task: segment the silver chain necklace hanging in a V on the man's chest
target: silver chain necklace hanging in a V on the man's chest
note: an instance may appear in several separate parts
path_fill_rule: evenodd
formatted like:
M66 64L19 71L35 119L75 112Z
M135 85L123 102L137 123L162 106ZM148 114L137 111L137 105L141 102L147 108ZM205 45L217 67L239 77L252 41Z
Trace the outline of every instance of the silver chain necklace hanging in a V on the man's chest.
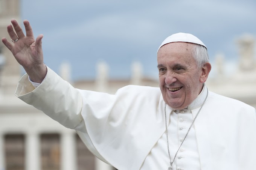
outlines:
M206 87L206 89L207 89L207 87ZM191 123L189 129L187 130L187 133L186 133L185 137L183 138L183 141L181 142L180 147L181 147L181 145L183 144L185 138L187 137L187 134L189 133L191 127L193 126L193 124L194 124L194 122L195 122L195 119L197 119L197 116L198 116L199 112L201 111L201 109L202 109L202 107L203 107L203 105L204 105L204 103L205 103L205 101L206 101L206 99L207 99L207 96L208 96L208 89L207 89L206 98L204 99L203 104L201 105L200 109L198 110L197 115L195 115L195 118L194 118L194 120L192 121L192 123ZM175 157L176 157L178 151L180 150L180 147L178 148L178 150L177 150L177 152L175 153L175 156L174 156L174 158L173 158L173 160L172 160L172 159L171 159L171 155L170 155L169 140L168 140L168 132L167 132L166 104L165 104L165 131L166 131L166 140L167 140L168 154L169 154L169 158L170 158L170 167L168 168L168 170L173 170L172 164L173 164L173 162L174 162L174 159L175 159Z

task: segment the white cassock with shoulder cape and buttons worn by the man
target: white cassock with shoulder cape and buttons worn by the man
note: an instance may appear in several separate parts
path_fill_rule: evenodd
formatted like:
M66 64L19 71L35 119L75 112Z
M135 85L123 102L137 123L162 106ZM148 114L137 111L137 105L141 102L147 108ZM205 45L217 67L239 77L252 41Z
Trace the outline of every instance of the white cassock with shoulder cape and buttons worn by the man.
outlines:
M36 89L24 75L15 94L67 128L75 129L94 155L119 170L168 169L165 102L159 88L126 86L115 95L79 90L47 69L45 80ZM204 87L184 110L166 107L172 158L179 145L177 140L186 134L206 93ZM179 113L185 113L185 118ZM174 126L186 130L175 131ZM186 140L191 142L184 141L184 152L175 158L175 168L256 169L255 108L209 92L189 135Z

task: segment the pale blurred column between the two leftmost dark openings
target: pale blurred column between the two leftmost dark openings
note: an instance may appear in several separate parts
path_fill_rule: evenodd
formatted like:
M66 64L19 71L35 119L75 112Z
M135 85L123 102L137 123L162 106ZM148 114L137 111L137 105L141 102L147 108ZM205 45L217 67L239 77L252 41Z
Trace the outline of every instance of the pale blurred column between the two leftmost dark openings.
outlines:
M26 134L26 144L25 144L25 158L26 158L26 170L40 170L40 138L39 134L35 132L30 132Z

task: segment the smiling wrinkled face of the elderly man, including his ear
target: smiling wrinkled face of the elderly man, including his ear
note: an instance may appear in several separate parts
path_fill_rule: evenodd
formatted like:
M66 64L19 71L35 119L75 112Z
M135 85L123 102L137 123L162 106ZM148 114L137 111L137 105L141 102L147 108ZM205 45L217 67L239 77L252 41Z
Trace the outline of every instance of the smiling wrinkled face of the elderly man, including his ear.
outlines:
M206 81L210 63L198 68L192 56L194 44L172 42L163 45L157 53L159 85L163 99L174 109L186 108L197 98Z

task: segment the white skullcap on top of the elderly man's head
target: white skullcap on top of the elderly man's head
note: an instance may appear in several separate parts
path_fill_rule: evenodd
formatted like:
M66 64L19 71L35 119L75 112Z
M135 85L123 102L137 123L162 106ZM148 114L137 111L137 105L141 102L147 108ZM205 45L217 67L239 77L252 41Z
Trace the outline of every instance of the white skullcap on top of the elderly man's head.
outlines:
M165 44L169 44L171 42L190 42L190 43L194 43L194 44L200 44L203 45L205 48L206 45L204 45L204 43L198 39L196 36L192 35L192 34L187 34L187 33L177 33L177 34L173 34L169 37L167 37L162 44L160 45L160 47L158 48L158 50ZM157 52L158 52L157 50Z

